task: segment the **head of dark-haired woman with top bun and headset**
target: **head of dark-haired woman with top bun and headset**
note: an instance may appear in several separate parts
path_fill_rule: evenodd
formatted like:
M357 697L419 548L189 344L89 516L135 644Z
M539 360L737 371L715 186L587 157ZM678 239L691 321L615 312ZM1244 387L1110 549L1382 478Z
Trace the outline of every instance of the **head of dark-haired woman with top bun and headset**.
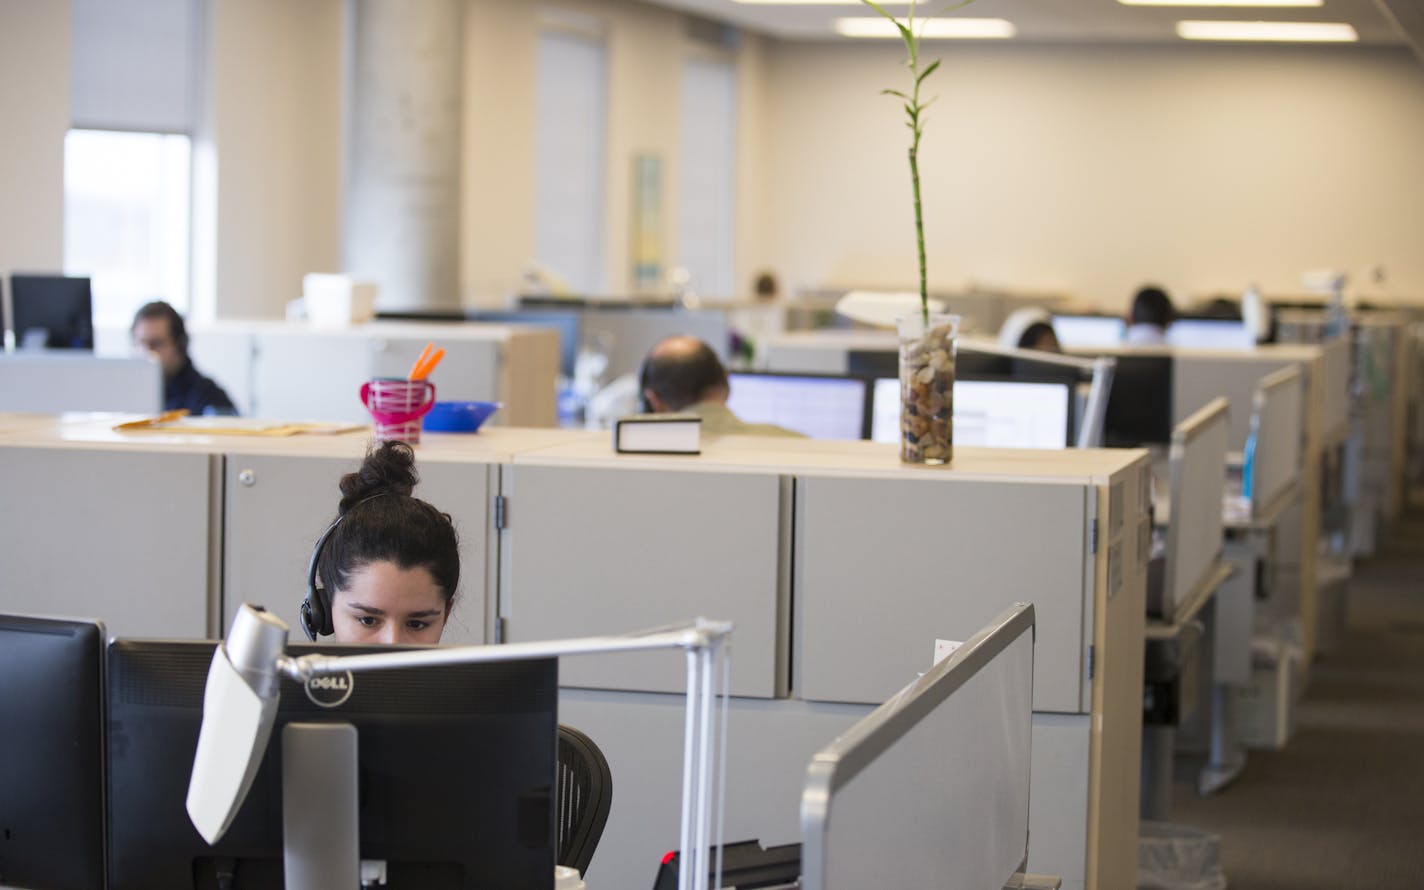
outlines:
M403 441L382 443L342 477L336 521L308 570L308 638L440 642L460 582L460 543L449 514L412 496L417 481L416 453Z

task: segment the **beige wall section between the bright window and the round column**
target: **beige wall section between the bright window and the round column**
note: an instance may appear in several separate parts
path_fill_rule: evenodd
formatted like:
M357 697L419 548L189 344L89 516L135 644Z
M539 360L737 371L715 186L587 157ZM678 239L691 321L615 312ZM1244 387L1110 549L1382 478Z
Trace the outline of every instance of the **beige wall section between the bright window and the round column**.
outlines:
M216 0L216 315L281 318L340 263L342 0Z

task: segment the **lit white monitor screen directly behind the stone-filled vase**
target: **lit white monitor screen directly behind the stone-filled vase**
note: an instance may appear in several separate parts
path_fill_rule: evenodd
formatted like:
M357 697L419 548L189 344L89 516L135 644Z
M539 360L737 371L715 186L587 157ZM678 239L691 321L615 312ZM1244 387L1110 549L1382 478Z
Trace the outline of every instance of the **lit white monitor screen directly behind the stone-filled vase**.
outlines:
M1072 444L1074 387L1061 382L954 382L954 443L993 449ZM870 439L900 441L900 380L874 382Z

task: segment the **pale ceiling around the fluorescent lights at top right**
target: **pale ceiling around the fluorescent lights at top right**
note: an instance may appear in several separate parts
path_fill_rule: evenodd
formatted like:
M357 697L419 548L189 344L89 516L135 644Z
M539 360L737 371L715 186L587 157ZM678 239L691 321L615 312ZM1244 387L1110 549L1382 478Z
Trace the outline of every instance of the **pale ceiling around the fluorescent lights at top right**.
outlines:
M733 0L652 0L658 6L696 13L786 40L844 40L832 23L842 16L874 16L862 4L762 6ZM1386 0L1388 1L1388 0ZM1396 0L1397 1L1397 0ZM946 3L923 3L921 13ZM903 13L906 6L891 6ZM1403 46L1405 38L1377 0L1324 0L1304 9L1262 7L1143 7L1118 0L974 0L947 13L951 17L1007 19L1018 28L1018 41L1030 43L1185 43L1176 37L1179 19L1272 21L1344 21L1354 26L1360 43Z

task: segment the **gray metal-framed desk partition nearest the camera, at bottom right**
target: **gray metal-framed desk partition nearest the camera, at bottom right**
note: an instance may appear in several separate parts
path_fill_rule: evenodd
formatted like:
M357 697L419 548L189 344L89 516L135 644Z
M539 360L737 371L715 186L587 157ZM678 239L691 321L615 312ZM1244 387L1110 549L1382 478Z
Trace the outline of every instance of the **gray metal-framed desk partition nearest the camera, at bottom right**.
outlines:
M1032 679L1034 607L1018 604L816 752L802 887L994 889L1022 873Z

